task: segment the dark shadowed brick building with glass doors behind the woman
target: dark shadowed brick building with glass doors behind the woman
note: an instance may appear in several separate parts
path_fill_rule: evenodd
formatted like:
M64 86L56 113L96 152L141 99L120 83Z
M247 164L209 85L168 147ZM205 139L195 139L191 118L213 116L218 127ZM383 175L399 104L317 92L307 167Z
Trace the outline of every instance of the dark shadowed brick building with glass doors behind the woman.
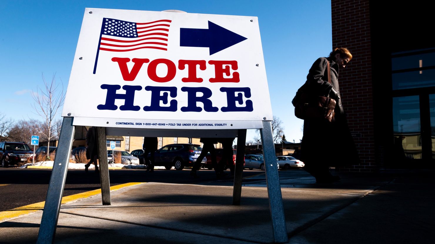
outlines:
M434 167L435 19L427 5L331 0L332 46L353 55L340 93L361 158L341 171Z

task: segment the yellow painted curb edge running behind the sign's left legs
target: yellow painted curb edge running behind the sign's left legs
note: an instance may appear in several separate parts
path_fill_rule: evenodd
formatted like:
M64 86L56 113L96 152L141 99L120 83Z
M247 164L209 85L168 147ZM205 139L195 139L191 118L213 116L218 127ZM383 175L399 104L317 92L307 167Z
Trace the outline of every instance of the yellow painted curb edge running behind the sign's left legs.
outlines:
M119 190L119 189L123 189L129 186L134 186L134 185L140 185L143 184L145 182L131 182L131 183L125 183L125 184L121 184L121 185L114 185L114 186L110 186L110 192ZM92 190L89 192L82 192L82 193L78 193L78 194L74 194L74 195L70 195L70 196L65 196L62 198L62 202L61 205L65 205L71 202L76 202L78 200L84 199L84 198L88 198L88 197L92 197L95 195L101 194L101 189L96 189L96 190ZM26 205L26 206L22 206L22 207L18 207L18 208L13 208L10 210L6 210L6 211L2 211L0 212L0 223L13 219L13 218L18 218L18 217L22 217L25 215L29 215L29 214L33 214L37 211L42 211L44 208L44 202L37 202L37 203L33 203L30 205Z

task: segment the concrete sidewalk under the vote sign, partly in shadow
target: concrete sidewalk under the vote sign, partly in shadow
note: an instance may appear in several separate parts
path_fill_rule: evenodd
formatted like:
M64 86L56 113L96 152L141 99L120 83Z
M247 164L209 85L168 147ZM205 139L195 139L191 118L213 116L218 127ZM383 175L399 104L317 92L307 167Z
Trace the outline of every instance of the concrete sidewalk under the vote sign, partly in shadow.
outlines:
M280 171L289 243L432 243L433 173L340 173L341 182L316 184L304 170ZM111 199L110 206L99 195L62 206L55 243L273 242L264 174L244 179L240 206L231 205L230 178L144 183ZM36 243L41 216L0 223L0 243Z

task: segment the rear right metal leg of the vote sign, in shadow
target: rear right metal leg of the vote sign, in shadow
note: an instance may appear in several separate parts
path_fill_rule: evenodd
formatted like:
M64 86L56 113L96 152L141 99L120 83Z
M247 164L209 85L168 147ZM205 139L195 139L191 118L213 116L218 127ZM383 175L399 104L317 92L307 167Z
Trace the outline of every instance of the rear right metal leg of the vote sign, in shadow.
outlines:
M240 198L242 193L242 175L243 175L243 158L244 158L245 142L246 142L246 129L239 130L237 133L236 166L234 168L233 205L240 205Z

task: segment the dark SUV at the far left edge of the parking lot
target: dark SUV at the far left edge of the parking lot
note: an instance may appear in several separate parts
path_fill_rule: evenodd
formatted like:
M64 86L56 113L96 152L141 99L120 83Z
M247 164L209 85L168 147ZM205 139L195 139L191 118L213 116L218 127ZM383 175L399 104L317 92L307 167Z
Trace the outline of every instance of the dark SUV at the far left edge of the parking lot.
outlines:
M27 161L27 159L32 156L33 151L25 142L0 142L0 160L2 167Z

